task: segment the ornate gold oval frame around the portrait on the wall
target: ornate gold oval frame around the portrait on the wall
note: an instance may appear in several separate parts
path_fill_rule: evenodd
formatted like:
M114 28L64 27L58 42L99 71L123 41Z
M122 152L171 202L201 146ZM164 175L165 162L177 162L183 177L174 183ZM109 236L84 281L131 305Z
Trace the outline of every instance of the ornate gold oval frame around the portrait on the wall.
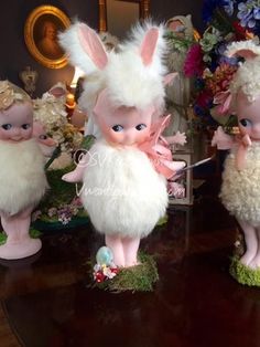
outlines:
M32 56L42 65L50 67L50 69L61 69L67 64L66 55L63 54L61 57L52 60L47 56L43 55L40 50L37 49L36 42L34 40L34 30L35 24L43 15L51 15L56 19L58 22L62 23L66 29L71 25L71 20L68 17L61 11L59 9L55 8L54 6L40 6L35 8L28 17L24 25L24 40L25 44L32 54Z

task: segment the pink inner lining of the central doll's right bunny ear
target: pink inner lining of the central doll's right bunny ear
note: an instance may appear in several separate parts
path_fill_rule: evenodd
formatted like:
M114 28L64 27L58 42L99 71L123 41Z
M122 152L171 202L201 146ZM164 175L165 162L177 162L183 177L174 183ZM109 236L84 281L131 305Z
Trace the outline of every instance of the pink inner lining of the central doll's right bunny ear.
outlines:
M151 28L141 43L140 55L144 66L150 65L152 63L153 55L158 44L158 39L159 30L156 28Z

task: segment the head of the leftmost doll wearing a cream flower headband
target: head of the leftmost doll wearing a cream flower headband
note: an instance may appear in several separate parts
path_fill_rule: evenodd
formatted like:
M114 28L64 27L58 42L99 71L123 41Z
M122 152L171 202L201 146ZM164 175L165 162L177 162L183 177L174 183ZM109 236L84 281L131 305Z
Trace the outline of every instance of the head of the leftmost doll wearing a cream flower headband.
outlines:
M0 81L0 139L22 141L32 137L30 96L8 81Z

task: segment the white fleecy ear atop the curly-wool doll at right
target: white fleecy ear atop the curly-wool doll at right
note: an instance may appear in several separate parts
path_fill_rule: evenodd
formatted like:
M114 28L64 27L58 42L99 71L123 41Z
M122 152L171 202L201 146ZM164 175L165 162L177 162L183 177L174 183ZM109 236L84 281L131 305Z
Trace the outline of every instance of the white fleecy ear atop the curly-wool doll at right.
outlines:
M239 55L241 57L245 57L246 60L254 59L257 56L260 56L260 46L257 45L253 41L234 42L229 45L226 55Z

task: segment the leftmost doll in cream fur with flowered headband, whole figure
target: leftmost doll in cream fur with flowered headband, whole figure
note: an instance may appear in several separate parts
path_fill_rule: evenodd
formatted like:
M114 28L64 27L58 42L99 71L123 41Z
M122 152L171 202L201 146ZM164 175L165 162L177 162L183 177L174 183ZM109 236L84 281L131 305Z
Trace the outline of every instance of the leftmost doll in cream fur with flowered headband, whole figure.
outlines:
M0 81L0 217L7 241L0 257L15 260L41 249L31 239L31 213L45 193L44 156L33 138L30 96L8 81Z

